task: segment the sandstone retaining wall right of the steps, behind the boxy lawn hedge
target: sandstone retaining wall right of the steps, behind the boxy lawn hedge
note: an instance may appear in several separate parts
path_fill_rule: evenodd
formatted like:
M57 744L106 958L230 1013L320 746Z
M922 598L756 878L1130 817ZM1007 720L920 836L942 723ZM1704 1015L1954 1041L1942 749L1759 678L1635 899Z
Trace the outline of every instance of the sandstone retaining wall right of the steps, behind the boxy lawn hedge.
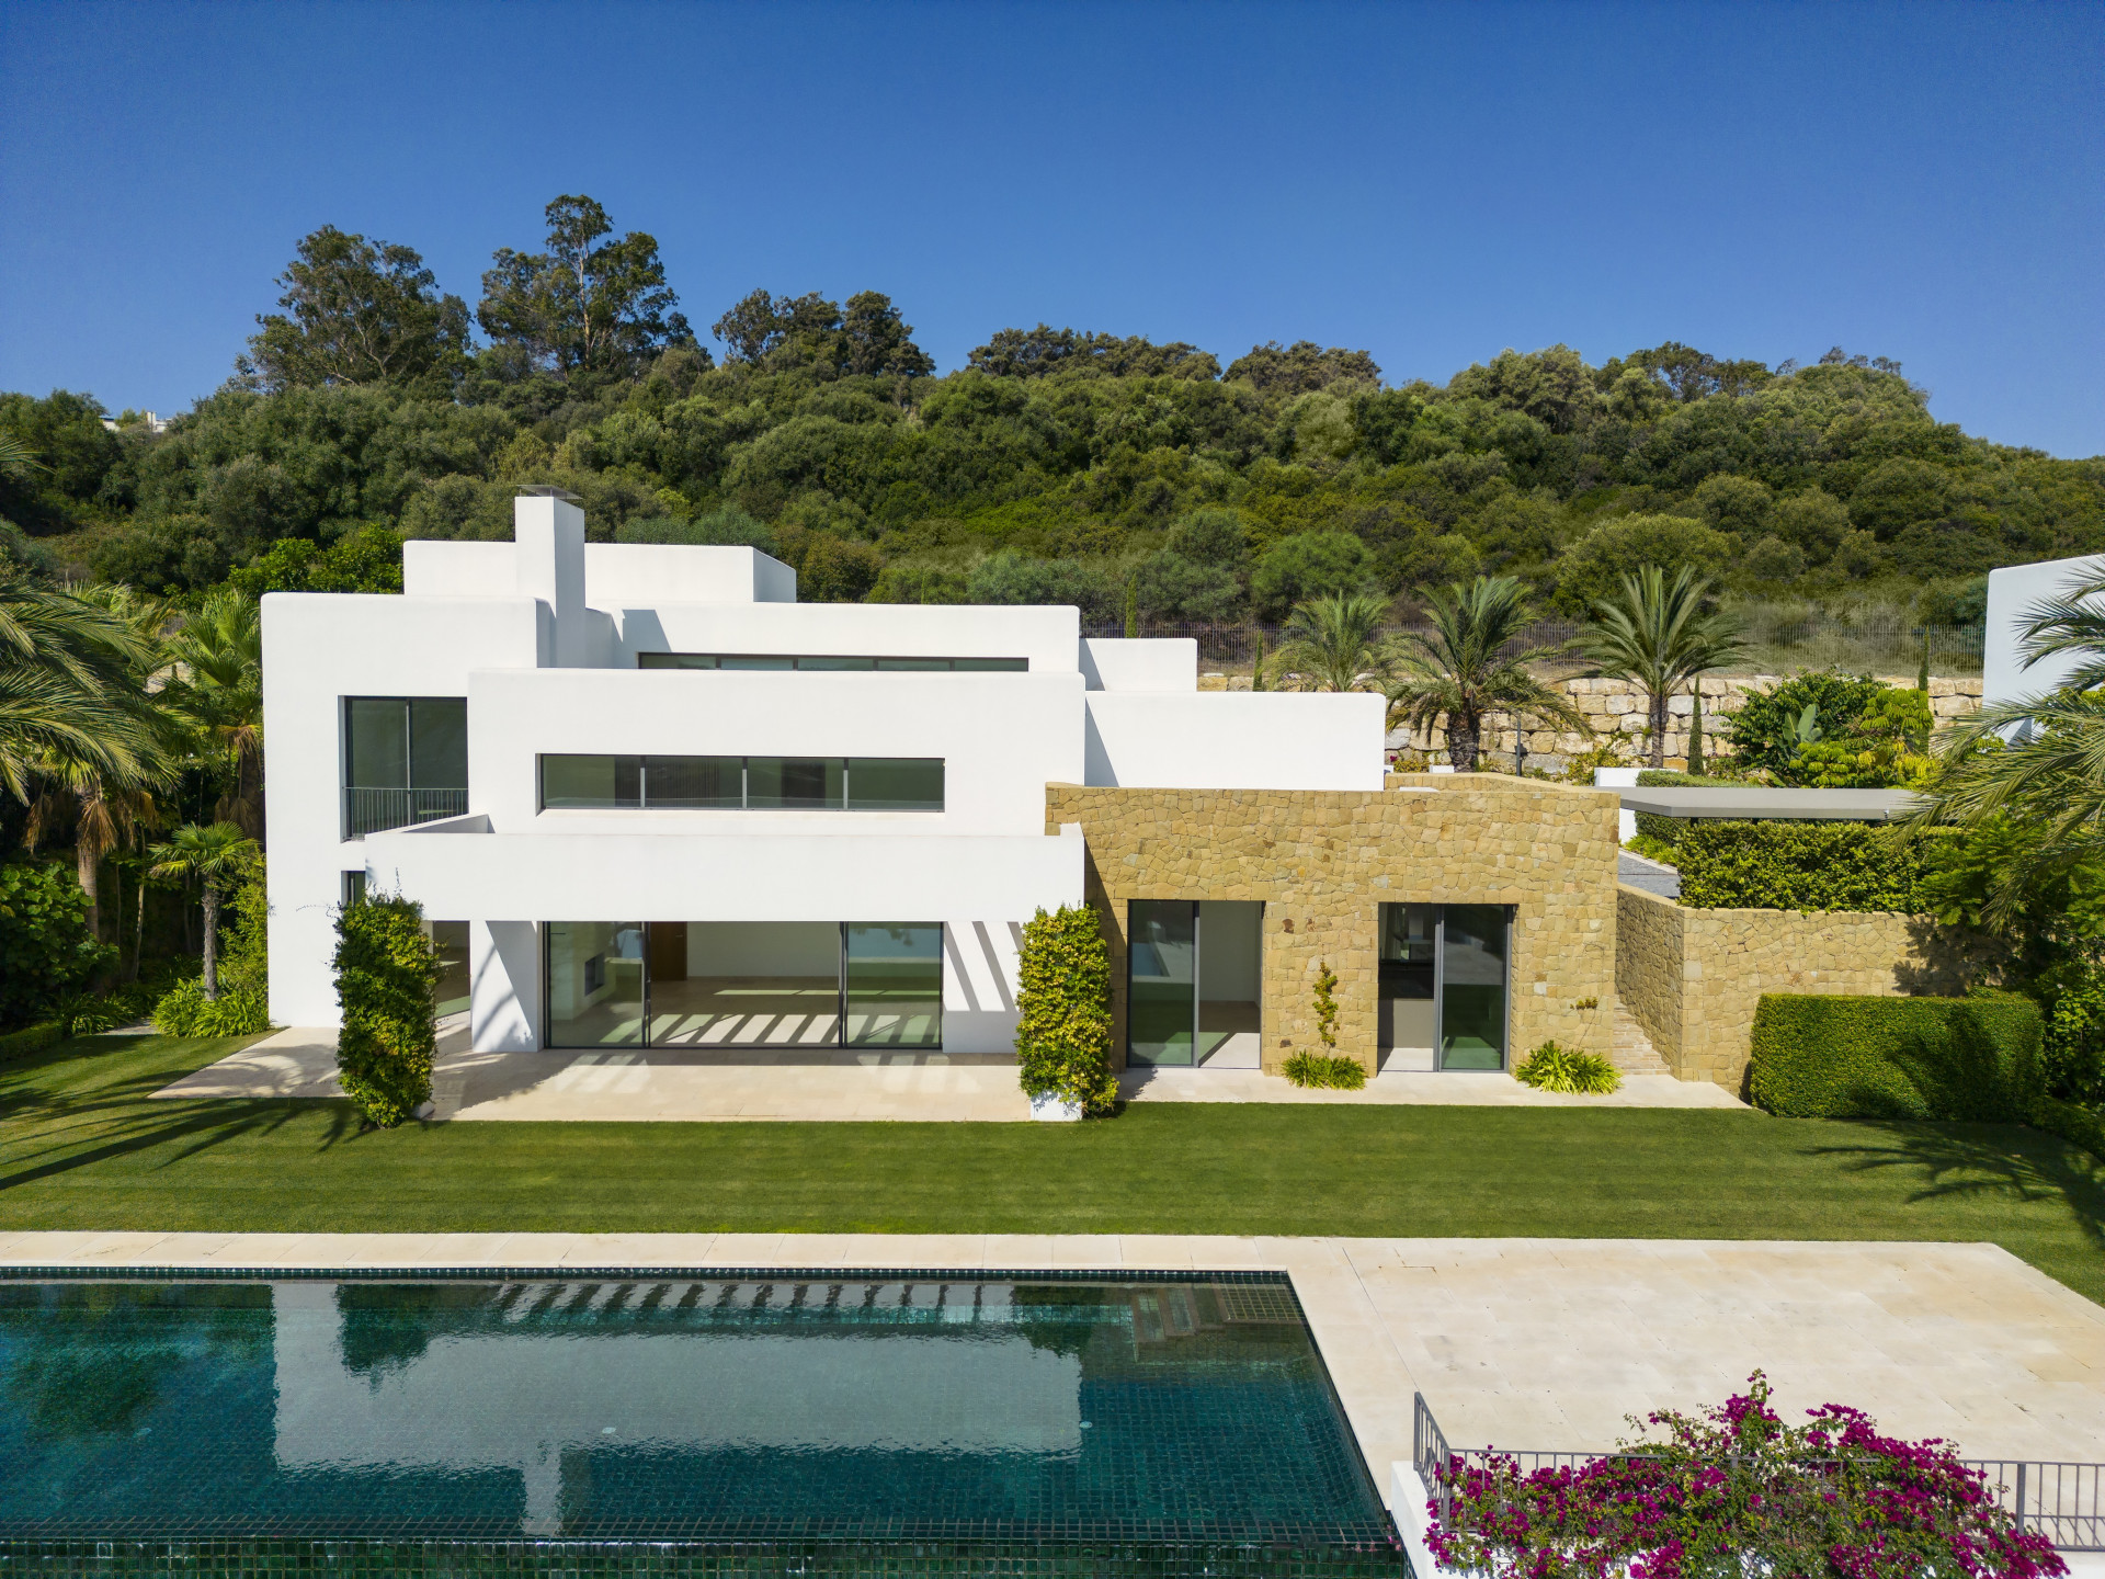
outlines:
M1966 960L1922 916L1686 910L1619 886L1617 992L1682 1080L1739 1095L1764 992L1953 994Z

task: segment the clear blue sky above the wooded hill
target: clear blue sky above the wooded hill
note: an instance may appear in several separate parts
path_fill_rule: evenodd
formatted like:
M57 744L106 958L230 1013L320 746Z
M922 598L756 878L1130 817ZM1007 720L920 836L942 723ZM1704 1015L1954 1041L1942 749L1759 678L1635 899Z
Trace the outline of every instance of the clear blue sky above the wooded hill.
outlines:
M688 318L890 293L1004 324L1366 347L1892 356L2105 453L2099 4L21 4L0 0L0 387L168 413L293 242L478 297L562 192Z

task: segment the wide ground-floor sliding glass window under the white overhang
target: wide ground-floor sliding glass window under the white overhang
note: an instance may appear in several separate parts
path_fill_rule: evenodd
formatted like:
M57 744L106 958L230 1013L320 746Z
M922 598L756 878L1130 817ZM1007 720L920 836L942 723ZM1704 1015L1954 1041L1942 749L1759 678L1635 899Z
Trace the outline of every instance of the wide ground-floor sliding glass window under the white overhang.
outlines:
M549 1046L937 1048L937 922L547 922Z

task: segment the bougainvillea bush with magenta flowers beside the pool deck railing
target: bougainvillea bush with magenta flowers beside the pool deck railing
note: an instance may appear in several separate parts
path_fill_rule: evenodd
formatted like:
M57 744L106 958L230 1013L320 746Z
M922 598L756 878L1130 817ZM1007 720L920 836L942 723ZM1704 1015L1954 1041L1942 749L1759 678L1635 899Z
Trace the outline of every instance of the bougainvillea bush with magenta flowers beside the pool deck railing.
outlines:
M1699 1415L1659 1411L1657 1436L1579 1467L1522 1474L1499 1453L1455 1455L1452 1507L1431 1516L1446 1568L1492 1579L2046 1579L2067 1564L2019 1531L1949 1442L1880 1436L1842 1404L1785 1425L1756 1371Z

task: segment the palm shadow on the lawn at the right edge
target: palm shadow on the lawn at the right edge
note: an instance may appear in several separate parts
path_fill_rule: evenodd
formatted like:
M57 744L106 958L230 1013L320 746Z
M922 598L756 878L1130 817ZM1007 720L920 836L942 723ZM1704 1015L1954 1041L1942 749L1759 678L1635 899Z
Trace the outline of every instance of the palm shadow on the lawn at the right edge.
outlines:
M1850 1122L1850 1120L1838 1120ZM1817 1145L1810 1156L1842 1158L1848 1173L1905 1168L1922 1183L1907 1200L2059 1200L2084 1238L2105 1251L2105 1164L2078 1145L2021 1124L1901 1124L1857 1120L1852 1128L1882 1143Z

